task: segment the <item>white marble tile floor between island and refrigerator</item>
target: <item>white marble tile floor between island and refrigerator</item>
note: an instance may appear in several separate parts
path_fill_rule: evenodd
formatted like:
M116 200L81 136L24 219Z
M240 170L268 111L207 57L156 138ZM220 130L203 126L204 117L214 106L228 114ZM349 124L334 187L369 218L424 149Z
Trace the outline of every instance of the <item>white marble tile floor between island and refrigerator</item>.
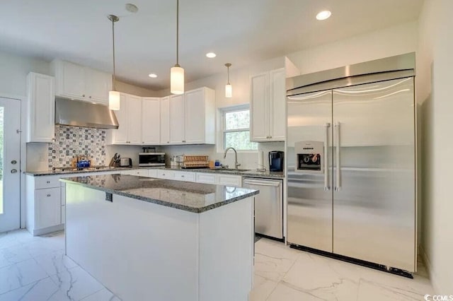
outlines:
M262 238L255 244L251 301L399 301L434 295L425 268L414 279L290 249Z

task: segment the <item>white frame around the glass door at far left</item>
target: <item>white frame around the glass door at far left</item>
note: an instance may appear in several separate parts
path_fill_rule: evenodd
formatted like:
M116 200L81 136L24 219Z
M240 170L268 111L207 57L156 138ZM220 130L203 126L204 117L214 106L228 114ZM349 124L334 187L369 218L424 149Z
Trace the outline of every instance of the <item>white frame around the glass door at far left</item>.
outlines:
M11 100L18 100L20 105L21 105L21 136L20 136L20 140L21 140L21 143L20 143L20 158L19 158L19 162L20 162L20 165L19 165L19 168L20 168L20 172L21 172L21 177L20 177L20 183L19 183L19 187L20 187L20 194L19 194L19 197L20 197L20 212L21 212L21 216L20 216L20 227L21 229L25 228L25 215L26 215L26 212L25 212L25 170L27 168L27 144L26 144L26 129L27 129L27 120L26 120L26 116L27 116L27 105L26 105L26 100L27 98L25 96L21 96L21 95L12 95L12 94L8 94L8 93L1 93L0 92L0 98L9 98Z

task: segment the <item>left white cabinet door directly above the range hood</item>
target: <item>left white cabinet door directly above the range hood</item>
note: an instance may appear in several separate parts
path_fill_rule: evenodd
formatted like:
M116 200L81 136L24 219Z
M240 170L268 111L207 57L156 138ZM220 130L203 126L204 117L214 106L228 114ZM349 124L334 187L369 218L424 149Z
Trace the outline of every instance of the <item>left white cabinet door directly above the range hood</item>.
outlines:
M79 100L85 98L85 71L84 66L62 61L59 65L61 78L57 78L57 93L65 97L74 97Z

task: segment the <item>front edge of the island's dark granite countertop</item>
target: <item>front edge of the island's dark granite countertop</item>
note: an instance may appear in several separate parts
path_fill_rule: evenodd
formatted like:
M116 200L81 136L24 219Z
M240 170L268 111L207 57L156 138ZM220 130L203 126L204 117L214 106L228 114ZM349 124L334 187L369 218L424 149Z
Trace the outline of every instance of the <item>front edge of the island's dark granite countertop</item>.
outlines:
M81 182L74 182L74 181L72 181L70 179L62 178L62 179L59 179L59 181L70 183L70 184L76 184L76 185L80 185L80 186L83 186L83 187L96 189L96 190L100 190L100 191L105 191L105 192L108 192L108 193L111 193L111 194L117 194L117 195L120 195L120 196L126 196L126 197L128 197L130 199L137 199L137 200L140 200L140 201L146 201L148 203L155 203L156 205L161 205L161 206L166 206L166 207L170 207L170 208L175 208L175 209L179 209L179 210L183 210L183 211L188 211L188 212L191 212L191 213L203 213L203 212L206 212L206 211L210 211L212 209L227 205L229 203L234 203L235 201L240 201L241 199L246 199L249 196L254 196L254 195L259 193L259 191L253 191L253 192L249 192L247 194L243 194L242 196L236 196L236 197L231 198L229 200L220 201L220 202L217 202L217 203L214 203L214 204L211 204L209 206L202 207L202 208L193 208L193 207L190 207L190 206L187 206L187 205L183 205L183 204L169 203L167 201L161 201L161 200L158 200L158 199L151 199L151 198L147 198L145 196L137 196L135 194L128 194L127 192L118 191L118 190L115 190L115 189L108 189L108 188L104 188L104 187L93 186L93 185L85 184L85 183L81 183Z

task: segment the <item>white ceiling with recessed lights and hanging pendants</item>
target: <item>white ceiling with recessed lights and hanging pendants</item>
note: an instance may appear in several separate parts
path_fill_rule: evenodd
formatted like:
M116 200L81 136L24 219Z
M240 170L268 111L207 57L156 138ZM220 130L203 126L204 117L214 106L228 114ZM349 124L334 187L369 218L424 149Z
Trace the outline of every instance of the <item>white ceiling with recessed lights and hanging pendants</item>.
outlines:
M137 13L125 4L138 6ZM152 90L168 88L176 64L176 0L1 1L0 50L55 57L112 72ZM180 65L185 81L326 42L416 20L423 0L180 0ZM328 20L316 13L332 11ZM379 45L377 45L379 46ZM205 54L217 53L214 59ZM149 78L156 73L158 78Z

